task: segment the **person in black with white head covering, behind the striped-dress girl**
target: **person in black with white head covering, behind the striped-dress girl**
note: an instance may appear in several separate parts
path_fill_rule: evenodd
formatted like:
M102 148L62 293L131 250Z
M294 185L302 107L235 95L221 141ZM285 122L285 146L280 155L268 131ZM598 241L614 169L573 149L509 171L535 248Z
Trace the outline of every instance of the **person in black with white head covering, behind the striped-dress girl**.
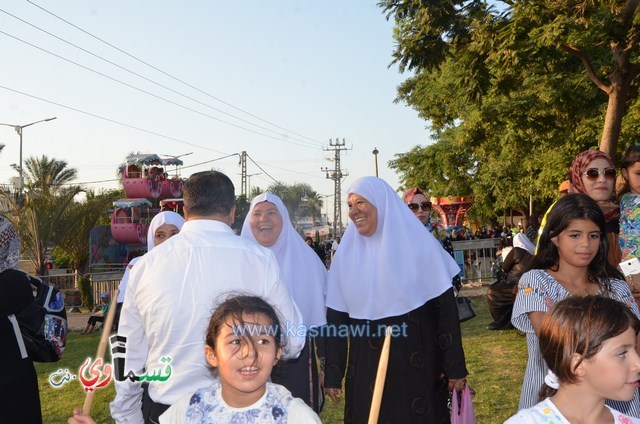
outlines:
M523 234L518 233L513 238L513 249L502 262L504 278L498 278L487 291L487 303L493 322L487 327L489 330L509 330L511 324L511 312L513 302L516 299L517 286L520 277L527 270L529 262L533 258L535 247Z

